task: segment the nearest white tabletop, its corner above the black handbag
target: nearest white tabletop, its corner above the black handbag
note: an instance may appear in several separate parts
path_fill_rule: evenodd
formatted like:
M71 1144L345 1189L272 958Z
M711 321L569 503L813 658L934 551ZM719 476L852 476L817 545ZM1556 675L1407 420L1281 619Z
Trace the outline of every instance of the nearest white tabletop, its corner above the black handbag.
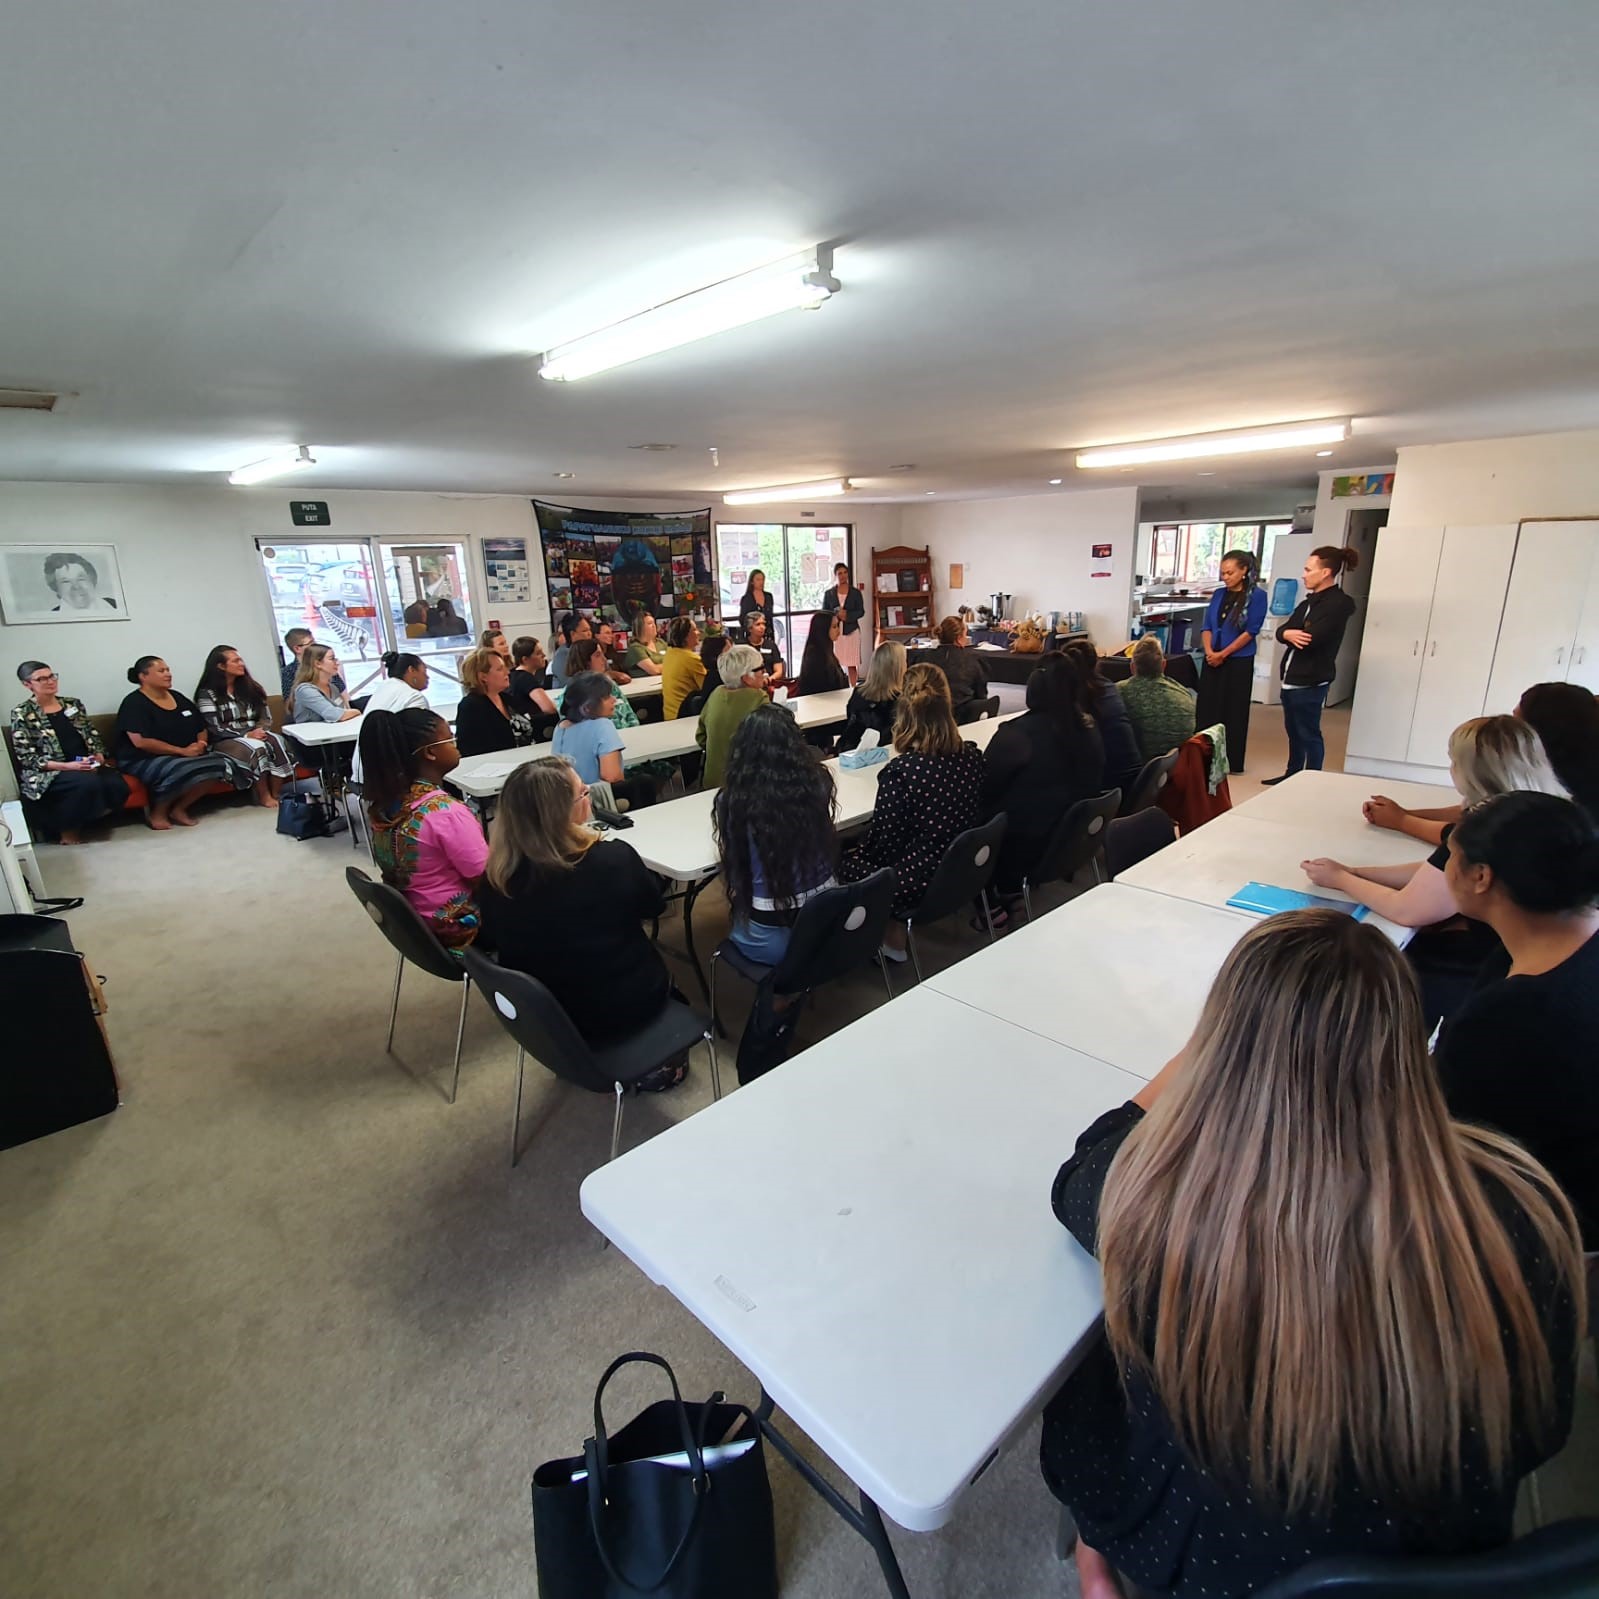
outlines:
M593 1172L584 1215L924 1532L1097 1337L1049 1190L1137 1089L916 988Z

